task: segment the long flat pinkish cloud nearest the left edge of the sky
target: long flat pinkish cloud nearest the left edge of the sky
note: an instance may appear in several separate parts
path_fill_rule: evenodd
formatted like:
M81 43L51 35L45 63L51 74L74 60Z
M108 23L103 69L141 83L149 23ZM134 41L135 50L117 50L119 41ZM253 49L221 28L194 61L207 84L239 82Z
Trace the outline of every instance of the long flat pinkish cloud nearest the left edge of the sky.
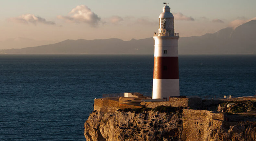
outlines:
M12 22L17 22L17 23L23 23L23 24L29 24L32 23L34 25L37 25L38 23L40 24L45 24L45 25L55 25L54 21L46 21L45 18L42 18L40 16L35 16L33 14L23 14L18 17L12 17L7 19Z

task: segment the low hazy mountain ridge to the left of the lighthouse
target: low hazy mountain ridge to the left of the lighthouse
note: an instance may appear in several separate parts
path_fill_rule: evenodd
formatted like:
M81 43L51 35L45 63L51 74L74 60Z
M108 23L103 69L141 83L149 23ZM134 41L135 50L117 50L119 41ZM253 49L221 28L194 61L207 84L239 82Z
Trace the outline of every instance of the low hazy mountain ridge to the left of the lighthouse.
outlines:
M62 42L23 49L3 49L7 54L153 54L154 39L123 41L117 38L96 40L64 40Z

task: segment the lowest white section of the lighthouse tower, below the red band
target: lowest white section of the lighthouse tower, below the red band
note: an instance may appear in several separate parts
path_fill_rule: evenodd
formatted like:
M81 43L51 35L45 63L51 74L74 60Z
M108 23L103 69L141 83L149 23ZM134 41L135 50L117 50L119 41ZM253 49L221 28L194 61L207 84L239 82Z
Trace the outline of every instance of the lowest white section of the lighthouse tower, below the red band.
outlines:
M180 96L179 79L153 79L153 99Z

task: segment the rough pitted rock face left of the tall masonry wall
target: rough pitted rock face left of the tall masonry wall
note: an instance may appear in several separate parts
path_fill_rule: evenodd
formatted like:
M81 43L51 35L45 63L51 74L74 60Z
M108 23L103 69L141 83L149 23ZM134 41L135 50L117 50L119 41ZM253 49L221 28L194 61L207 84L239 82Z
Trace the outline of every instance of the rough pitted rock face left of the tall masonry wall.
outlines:
M84 125L87 141L181 140L183 127L180 111L135 113L94 111Z

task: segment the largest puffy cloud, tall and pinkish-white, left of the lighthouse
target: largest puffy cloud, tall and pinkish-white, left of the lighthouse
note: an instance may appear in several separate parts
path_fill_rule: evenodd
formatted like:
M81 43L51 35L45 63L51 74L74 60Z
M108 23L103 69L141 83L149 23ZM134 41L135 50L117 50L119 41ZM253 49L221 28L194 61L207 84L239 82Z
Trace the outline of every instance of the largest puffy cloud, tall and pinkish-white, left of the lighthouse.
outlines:
M68 13L68 16L58 15L57 18L63 19L66 22L86 23L91 27L97 27L101 19L86 5L78 5Z

